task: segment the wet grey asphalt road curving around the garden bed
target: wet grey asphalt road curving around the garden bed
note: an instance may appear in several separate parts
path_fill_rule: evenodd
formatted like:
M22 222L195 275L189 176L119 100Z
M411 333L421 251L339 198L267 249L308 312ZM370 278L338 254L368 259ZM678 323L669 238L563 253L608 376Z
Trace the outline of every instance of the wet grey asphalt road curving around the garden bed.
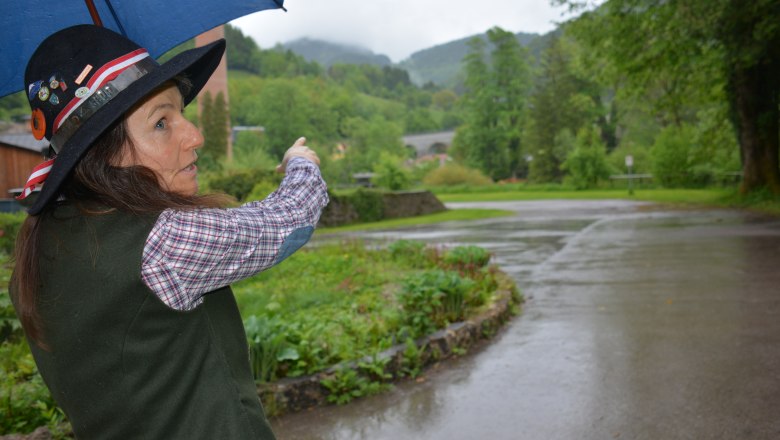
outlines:
M780 219L478 206L517 215L362 236L484 246L523 314L422 383L272 420L280 439L780 439Z

